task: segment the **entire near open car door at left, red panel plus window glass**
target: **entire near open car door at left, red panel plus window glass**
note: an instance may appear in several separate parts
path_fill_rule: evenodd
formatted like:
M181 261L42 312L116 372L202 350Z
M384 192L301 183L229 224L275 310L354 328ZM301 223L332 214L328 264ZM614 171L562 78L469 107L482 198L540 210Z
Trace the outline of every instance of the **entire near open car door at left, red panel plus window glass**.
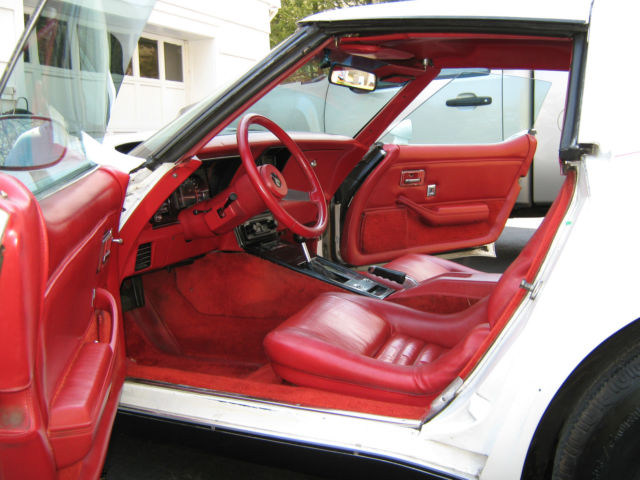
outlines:
M97 478L124 381L129 177L100 140L152 3L41 7L1 80L0 478Z

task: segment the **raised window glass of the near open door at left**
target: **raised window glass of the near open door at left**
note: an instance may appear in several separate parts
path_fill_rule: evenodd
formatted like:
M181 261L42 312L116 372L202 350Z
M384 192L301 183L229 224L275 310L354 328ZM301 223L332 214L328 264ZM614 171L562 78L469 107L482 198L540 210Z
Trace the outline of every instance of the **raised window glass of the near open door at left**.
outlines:
M154 0L55 0L37 9L31 31L3 76L0 171L34 193L93 167L88 144L109 115Z

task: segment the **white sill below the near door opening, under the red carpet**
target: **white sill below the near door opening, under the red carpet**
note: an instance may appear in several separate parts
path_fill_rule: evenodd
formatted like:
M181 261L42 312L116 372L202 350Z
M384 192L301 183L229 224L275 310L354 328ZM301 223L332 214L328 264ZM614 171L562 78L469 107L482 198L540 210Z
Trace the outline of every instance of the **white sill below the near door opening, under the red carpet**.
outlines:
M267 400L245 400L240 396L200 393L202 391L210 392L201 388L167 387L162 382L127 379L119 408L132 414L155 416L265 440L328 448L391 461L424 470L436 478L476 478L476 465L484 458L481 454L467 452L472 460L476 460L468 465L469 468L448 468L441 459L450 457L451 447L439 440L423 438L419 428L410 428L417 425L415 421L411 421L411 426L387 423L386 420L390 420L387 417L364 415L371 419L356 418L351 412L323 411L299 405L282 406ZM459 449L456 448L453 453L460 453Z

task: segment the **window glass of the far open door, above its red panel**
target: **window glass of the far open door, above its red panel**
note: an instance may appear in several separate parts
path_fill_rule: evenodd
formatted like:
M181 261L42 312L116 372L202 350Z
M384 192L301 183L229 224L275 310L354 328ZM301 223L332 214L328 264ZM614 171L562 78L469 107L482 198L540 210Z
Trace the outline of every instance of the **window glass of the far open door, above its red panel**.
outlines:
M384 143L498 143L532 128L551 86L508 72L436 78L391 125Z

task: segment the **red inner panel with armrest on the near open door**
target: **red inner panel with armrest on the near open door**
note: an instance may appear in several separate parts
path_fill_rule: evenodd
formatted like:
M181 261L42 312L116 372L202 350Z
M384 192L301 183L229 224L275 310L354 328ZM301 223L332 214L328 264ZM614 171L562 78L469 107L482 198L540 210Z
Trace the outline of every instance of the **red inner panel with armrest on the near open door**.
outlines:
M104 412L109 394L120 388L113 384L119 306L109 293L119 291L118 246L107 244L108 254L103 246L108 232L118 231L119 176L101 168L40 202L51 260L39 371L58 468L89 452L101 419L110 416ZM108 318L113 338L94 336L99 318Z

